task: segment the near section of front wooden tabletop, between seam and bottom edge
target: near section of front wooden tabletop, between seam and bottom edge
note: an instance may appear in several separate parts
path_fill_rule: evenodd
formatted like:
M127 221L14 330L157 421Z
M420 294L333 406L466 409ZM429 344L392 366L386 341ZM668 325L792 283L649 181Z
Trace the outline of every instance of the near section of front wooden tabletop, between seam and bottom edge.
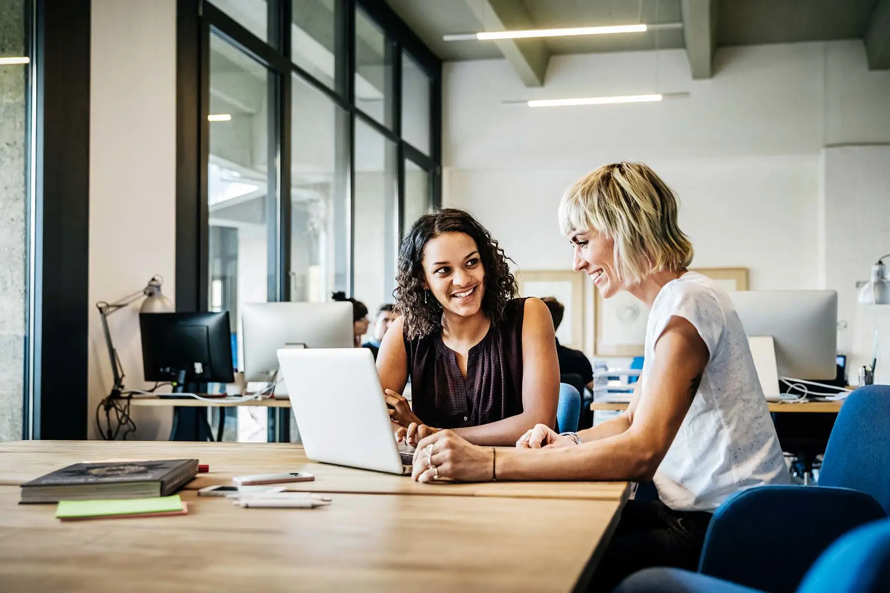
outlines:
M335 494L240 509L182 494L184 517L62 523L0 486L0 589L569 591L619 501Z

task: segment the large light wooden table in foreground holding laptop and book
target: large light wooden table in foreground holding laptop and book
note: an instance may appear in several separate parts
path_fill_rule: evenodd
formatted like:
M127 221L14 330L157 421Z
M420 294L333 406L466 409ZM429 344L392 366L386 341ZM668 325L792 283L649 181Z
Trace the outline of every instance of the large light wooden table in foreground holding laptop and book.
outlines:
M627 497L625 484L417 485L274 444L3 443L0 476L131 456L198 457L211 480L305 468L316 481L294 486L333 501L240 509L191 485L185 517L61 523L55 505L19 505L19 488L0 485L0 590L583 590Z

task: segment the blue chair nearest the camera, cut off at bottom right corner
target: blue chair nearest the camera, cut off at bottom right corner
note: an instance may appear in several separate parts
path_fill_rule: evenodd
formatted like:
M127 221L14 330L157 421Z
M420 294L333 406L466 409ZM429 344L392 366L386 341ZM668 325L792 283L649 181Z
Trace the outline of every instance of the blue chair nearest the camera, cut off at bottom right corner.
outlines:
M807 571L797 593L890 591L890 520L863 525L831 544ZM729 581L679 568L647 568L613 593L757 593Z

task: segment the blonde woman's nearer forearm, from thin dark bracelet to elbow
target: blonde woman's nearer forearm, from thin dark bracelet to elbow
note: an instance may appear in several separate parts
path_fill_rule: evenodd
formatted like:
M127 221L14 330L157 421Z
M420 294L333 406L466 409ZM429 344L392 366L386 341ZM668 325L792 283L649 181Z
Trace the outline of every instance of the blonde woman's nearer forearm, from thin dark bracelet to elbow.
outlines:
M498 451L496 469L505 480L640 480L651 478L656 458L625 431L574 447Z

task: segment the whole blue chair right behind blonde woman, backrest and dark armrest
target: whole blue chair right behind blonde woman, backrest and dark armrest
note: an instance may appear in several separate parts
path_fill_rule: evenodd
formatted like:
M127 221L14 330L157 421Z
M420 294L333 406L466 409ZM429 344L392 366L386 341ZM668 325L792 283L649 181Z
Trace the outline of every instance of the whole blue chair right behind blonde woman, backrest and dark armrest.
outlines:
M818 486L761 486L716 510L699 572L773 593L793 591L843 533L890 508L890 386L851 393L837 414Z

